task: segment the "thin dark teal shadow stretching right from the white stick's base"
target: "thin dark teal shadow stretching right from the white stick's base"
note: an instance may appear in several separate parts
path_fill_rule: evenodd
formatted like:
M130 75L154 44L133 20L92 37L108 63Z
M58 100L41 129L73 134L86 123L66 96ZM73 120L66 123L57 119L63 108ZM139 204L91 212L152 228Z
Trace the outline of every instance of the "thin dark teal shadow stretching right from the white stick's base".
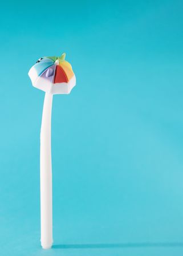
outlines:
M53 249L101 249L101 248L125 248L125 247L183 247L183 243L167 242L167 243L86 243L86 244L68 244L53 245Z

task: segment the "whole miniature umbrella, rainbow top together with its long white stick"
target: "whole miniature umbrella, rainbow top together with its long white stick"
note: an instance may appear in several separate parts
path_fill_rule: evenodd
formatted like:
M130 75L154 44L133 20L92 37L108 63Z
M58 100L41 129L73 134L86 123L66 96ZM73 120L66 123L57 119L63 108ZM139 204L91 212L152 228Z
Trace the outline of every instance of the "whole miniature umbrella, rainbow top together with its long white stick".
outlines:
M29 71L32 86L46 92L40 129L40 241L52 246L51 109L53 94L70 94L76 84L71 64L60 57L40 58Z

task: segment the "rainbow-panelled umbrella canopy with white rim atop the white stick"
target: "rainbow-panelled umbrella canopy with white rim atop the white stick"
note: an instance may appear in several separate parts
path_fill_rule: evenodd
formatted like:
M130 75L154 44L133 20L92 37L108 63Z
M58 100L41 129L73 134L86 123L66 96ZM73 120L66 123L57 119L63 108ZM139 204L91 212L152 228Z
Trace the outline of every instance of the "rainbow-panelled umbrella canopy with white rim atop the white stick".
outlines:
M32 85L51 94L69 94L76 78L65 57L66 54L40 58L29 71Z

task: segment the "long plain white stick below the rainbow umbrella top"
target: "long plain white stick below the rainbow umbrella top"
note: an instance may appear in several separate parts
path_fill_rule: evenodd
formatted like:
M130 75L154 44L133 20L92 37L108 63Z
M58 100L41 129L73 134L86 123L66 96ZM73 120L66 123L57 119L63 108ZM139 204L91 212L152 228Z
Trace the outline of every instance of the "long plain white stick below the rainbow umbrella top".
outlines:
M52 168L51 168L51 109L52 94L44 97L40 129L40 242L43 249L52 246Z

